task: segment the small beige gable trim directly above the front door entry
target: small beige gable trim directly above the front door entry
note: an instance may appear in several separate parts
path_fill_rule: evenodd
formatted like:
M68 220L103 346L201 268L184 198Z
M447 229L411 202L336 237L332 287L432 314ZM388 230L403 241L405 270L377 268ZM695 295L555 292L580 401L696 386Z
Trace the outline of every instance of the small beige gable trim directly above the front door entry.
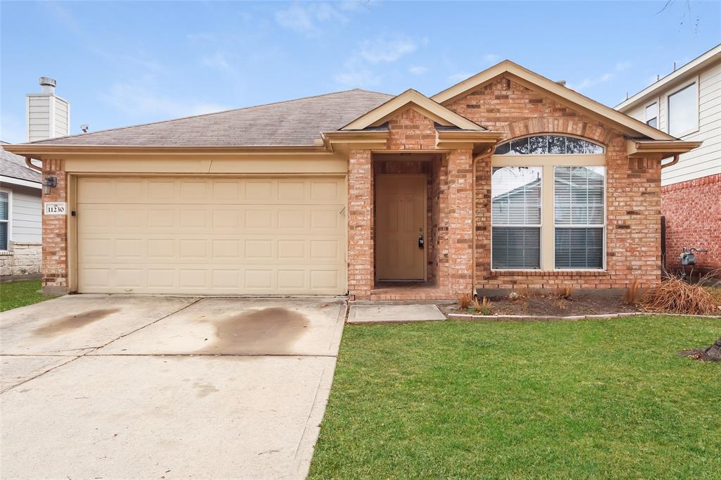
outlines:
M407 107L412 107L413 110L420 112L443 126L452 126L460 128L461 130L487 130L481 125L468 120L466 117L463 117L452 110L448 110L448 108L443 107L443 105L438 102L434 102L424 94L413 89L406 90L397 97L393 97L388 102L385 102L373 110L366 112L352 122L348 123L348 125L340 128L340 130L364 130L369 127L376 127L384 123L390 117L397 115L400 111L405 110Z

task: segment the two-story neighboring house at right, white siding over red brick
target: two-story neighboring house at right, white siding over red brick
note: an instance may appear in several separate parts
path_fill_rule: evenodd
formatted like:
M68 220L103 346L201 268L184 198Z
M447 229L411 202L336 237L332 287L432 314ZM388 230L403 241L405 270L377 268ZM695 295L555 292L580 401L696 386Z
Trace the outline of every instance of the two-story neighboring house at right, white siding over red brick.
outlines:
M665 265L673 272L684 248L708 249L696 254L696 269L721 276L721 45L616 110L675 137L703 141L661 174Z

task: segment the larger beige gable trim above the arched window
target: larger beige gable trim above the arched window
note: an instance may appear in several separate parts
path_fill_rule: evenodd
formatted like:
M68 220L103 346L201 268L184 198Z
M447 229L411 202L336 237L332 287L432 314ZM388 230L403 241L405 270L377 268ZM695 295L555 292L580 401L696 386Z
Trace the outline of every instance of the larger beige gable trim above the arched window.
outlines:
M573 110L589 115L590 117L595 117L603 123L614 125L614 127L618 128L627 135L646 137L653 140L676 139L673 136L668 135L668 133L664 133L650 127L649 125L618 112L611 107L606 107L606 105L585 97L584 95L555 81L549 80L544 76L536 74L527 68L523 68L510 60L504 60L491 68L487 68L479 74L461 81L430 98L435 100L435 102L444 104L479 88L479 86L487 84L497 76L501 75L510 77L510 79L513 79L522 86L526 86L528 89L536 91L540 90L547 96L556 99L559 103L566 105Z

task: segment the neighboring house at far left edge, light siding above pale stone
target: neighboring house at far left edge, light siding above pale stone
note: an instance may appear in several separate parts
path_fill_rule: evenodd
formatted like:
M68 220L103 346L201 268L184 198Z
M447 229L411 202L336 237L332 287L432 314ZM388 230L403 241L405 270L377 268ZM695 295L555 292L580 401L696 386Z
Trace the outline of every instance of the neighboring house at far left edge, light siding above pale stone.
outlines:
M40 277L40 172L0 145L0 277Z

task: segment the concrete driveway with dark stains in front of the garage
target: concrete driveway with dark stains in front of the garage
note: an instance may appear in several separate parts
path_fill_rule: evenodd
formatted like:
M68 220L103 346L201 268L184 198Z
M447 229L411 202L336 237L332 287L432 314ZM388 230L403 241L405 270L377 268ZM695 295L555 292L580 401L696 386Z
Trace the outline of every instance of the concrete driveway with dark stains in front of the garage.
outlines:
M72 295L4 312L0 476L304 478L345 308Z

